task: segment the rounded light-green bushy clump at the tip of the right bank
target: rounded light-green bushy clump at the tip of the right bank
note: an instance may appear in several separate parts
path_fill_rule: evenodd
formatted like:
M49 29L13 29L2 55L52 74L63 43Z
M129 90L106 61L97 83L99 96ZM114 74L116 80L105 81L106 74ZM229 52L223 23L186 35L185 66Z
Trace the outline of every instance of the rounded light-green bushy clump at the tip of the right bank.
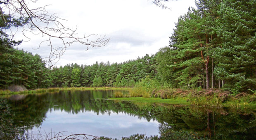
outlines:
M153 90L159 89L160 84L155 80L146 76L145 79L138 81L135 83L135 87L130 91L131 97L151 97L151 93Z

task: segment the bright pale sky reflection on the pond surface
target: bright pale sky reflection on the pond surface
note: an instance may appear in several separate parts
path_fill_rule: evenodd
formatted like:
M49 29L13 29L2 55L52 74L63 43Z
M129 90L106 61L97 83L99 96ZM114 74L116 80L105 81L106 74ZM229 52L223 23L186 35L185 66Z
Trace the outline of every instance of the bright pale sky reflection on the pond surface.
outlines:
M127 113L110 111L110 115L97 115L93 111L69 113L61 110L48 111L43 124L40 126L40 133L64 132L64 135L85 133L95 136L121 139L122 136L130 136L136 133L159 135L159 122L146 119L139 119ZM34 127L33 133L38 133Z

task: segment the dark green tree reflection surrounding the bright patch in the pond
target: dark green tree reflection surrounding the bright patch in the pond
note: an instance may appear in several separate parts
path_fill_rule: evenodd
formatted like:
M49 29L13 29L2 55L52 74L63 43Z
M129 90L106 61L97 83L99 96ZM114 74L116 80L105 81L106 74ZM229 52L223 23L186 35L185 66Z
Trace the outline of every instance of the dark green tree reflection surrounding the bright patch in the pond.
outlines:
M161 139L253 139L256 138L255 110L249 108L199 108L160 103L130 103L106 100L112 91L61 91L9 97L8 106L15 127L31 129L40 126L48 110L69 113L93 111L111 115L125 112L132 116L154 119L160 123ZM1 118L2 119L2 118ZM1 122L2 123L2 122ZM5 124L1 124L5 125Z

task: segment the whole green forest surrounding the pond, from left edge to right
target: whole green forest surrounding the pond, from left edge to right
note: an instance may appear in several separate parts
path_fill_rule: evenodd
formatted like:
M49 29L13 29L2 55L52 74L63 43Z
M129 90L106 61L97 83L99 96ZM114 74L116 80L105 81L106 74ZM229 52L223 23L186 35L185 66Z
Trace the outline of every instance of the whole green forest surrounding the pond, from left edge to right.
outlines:
M16 49L22 41L10 39L5 29L27 21L6 15L11 24L0 18L0 88L133 87L147 77L171 88L255 91L256 1L198 0L196 6L180 16L169 45L156 54L61 67L46 67L39 55Z

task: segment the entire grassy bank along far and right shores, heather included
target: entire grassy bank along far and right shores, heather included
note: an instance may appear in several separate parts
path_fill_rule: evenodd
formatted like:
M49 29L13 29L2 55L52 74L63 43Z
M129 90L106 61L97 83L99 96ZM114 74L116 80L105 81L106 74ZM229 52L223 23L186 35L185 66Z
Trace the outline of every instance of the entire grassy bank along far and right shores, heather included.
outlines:
M1 95L10 94L38 94L44 92L59 92L64 90L114 90L116 101L131 101L134 103L168 103L204 107L252 107L256 108L256 94L231 94L219 89L209 90L184 90L171 88L154 88L154 87L68 87L68 88L48 88L25 90L20 92L11 92L9 90L0 90ZM120 91L129 91L123 94Z

